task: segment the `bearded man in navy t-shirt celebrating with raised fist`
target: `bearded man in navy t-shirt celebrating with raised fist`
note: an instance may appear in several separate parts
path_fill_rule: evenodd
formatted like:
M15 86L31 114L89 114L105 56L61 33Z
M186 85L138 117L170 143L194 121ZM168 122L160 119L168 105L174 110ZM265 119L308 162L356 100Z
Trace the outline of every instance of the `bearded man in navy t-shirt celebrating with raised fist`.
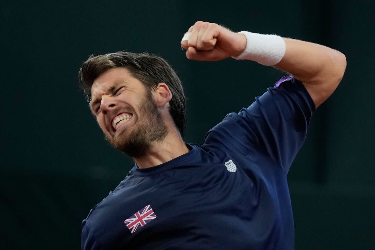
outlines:
M82 249L294 249L287 173L312 112L344 75L345 56L201 21L181 46L190 60L249 59L291 76L192 145L182 139L181 82L163 59L90 57L81 87L107 140L135 166L83 221Z

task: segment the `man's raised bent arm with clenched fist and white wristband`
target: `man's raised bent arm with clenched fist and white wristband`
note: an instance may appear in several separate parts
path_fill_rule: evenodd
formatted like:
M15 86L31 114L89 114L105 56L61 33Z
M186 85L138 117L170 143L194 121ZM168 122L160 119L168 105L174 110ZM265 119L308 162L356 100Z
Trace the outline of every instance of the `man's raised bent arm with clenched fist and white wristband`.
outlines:
M235 33L218 24L202 21L196 22L188 32L181 45L187 50L186 57L190 60L217 61L239 56L263 63L267 56L272 56L275 62L276 54L278 62L268 65L284 70L300 80L316 107L333 93L345 72L345 55L316 43L288 38L276 39L275 42L275 36ZM267 39L273 41L268 43ZM285 44L281 44L284 42ZM250 48L251 46L255 48ZM272 46L275 46L276 51L273 51Z

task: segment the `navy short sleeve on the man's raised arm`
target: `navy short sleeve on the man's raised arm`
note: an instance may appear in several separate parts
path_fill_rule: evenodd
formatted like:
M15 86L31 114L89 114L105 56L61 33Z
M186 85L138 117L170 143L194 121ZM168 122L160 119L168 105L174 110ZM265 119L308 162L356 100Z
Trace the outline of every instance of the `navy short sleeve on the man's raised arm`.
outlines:
M225 144L242 154L249 147L258 148L288 173L314 111L314 102L302 82L284 76L248 108L226 115L207 133L205 144Z

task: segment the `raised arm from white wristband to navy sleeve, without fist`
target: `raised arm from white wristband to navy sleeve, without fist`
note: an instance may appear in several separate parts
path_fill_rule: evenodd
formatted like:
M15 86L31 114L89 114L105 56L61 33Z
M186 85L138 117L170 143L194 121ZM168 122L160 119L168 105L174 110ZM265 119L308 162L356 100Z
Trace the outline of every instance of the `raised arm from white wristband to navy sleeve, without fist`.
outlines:
M290 73L305 85L316 107L333 93L344 75L345 56L335 49L274 35L240 33L246 37L246 47L234 58L273 65Z

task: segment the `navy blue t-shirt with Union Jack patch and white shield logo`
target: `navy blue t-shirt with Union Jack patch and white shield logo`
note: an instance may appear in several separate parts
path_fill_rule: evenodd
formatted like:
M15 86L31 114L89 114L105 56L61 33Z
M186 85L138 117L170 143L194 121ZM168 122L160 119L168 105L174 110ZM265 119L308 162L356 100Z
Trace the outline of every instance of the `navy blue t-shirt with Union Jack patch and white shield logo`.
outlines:
M294 78L276 86L226 115L203 145L134 166L83 220L82 249L294 249L287 173L315 105Z

